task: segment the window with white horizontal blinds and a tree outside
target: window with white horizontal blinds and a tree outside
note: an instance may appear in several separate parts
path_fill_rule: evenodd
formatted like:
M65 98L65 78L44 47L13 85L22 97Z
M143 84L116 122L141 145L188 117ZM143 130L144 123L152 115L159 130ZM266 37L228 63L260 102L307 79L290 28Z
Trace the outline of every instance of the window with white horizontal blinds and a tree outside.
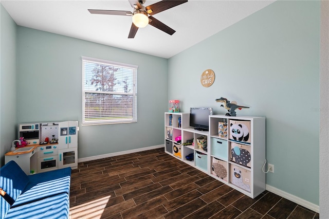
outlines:
M82 124L137 122L137 68L82 57Z

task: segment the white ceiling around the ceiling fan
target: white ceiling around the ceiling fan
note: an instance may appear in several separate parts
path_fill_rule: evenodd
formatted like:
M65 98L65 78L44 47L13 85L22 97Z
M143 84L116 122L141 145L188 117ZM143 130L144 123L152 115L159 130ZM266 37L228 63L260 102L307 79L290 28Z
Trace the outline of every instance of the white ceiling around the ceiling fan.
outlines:
M273 3L189 0L154 17L176 30L173 35L148 25L128 39L131 16L90 14L87 9L133 11L120 1L1 1L17 25L71 36L108 46L170 58ZM144 6L159 1L147 0Z

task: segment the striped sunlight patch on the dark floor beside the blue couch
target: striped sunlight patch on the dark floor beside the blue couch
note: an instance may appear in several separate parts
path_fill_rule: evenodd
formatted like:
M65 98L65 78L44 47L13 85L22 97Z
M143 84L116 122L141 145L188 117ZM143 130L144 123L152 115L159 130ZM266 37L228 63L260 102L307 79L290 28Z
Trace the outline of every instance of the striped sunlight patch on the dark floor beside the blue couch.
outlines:
M101 218L110 197L111 195L105 196L70 208L70 218Z

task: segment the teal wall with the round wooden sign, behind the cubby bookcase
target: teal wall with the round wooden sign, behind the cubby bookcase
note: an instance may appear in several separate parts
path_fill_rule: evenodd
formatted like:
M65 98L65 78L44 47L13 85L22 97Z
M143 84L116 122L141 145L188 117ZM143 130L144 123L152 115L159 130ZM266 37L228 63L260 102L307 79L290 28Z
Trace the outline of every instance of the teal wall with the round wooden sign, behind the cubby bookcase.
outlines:
M169 59L168 98L266 117L266 184L319 205L320 2L279 1ZM211 87L200 84L206 69Z

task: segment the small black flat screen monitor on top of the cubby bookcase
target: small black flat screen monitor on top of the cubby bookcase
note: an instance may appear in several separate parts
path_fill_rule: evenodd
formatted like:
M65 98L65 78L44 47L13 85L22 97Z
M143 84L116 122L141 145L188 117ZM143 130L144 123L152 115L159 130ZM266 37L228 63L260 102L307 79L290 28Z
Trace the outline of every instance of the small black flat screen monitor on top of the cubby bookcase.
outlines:
M190 126L194 127L195 130L208 131L210 115L212 115L212 108L190 108Z

